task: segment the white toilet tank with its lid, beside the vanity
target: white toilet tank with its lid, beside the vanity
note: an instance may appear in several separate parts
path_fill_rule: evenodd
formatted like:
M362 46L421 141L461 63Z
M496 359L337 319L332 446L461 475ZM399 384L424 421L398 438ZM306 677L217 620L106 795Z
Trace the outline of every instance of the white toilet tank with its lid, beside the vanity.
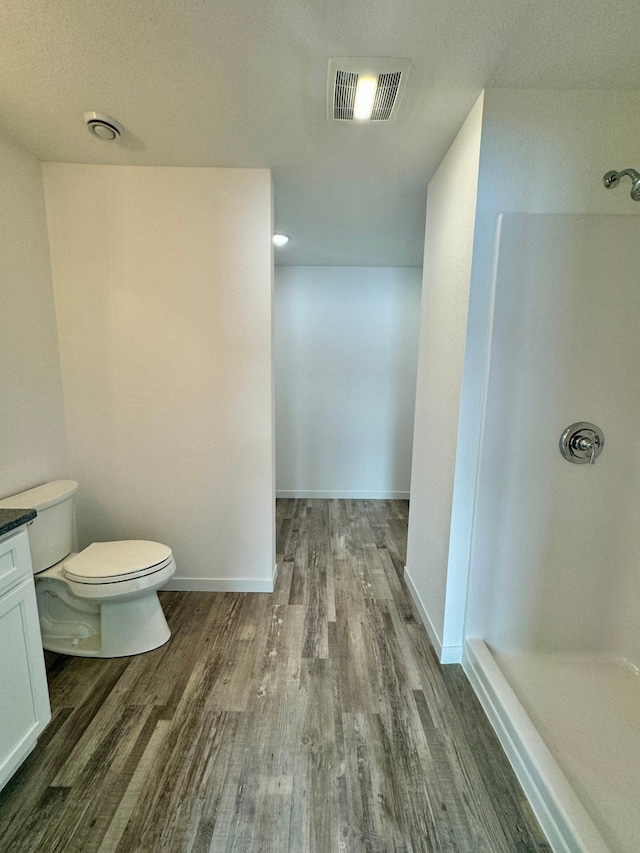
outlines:
M35 509L27 526L34 574L60 562L71 552L75 480L55 480L0 500L3 509Z

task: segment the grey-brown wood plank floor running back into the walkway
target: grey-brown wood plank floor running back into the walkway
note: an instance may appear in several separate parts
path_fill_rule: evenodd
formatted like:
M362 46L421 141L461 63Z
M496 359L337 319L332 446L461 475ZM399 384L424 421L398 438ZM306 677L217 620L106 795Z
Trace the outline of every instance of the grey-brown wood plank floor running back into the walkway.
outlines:
M549 851L402 570L402 501L278 501L273 595L162 593L134 658L47 655L0 851Z

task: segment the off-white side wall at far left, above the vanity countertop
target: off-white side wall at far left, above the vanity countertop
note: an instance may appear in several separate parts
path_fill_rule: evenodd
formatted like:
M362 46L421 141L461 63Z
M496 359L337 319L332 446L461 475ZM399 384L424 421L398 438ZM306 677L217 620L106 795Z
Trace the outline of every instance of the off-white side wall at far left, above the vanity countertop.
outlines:
M0 137L0 497L68 475L40 163Z

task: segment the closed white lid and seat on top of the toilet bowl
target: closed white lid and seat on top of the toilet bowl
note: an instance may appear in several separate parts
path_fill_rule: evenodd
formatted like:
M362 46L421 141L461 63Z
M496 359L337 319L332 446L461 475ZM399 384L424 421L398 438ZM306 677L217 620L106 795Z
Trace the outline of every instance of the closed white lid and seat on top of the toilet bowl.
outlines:
M63 564L66 577L84 583L133 580L159 571L172 560L171 548L159 542L125 539L94 542Z

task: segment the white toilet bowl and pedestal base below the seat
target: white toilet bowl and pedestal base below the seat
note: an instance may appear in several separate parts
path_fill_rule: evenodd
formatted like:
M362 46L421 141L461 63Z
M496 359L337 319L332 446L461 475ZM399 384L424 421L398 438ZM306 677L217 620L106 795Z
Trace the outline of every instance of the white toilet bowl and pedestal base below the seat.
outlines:
M52 578L36 578L42 645L48 651L128 657L157 649L171 636L155 590L135 599L98 604L73 600L60 584Z

